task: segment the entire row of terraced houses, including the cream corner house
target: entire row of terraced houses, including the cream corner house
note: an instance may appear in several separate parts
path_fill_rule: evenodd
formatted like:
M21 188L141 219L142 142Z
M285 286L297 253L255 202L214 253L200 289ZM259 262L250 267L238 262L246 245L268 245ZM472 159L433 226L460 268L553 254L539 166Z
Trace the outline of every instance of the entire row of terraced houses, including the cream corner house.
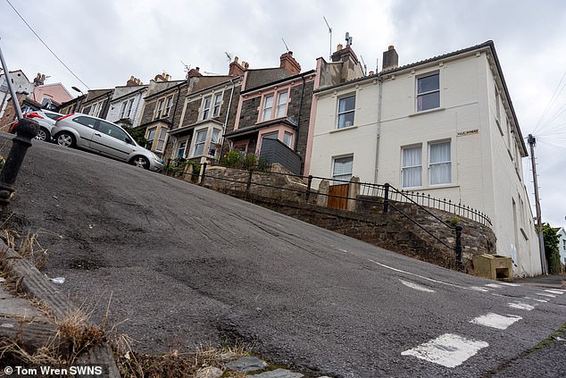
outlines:
M290 172L417 190L481 210L496 252L514 273L542 272L521 159L528 155L495 46L487 41L399 65L394 46L379 72L364 72L352 46L302 71L236 57L225 76L198 68L186 80L89 91L62 105L145 132L164 159L216 162L231 148Z

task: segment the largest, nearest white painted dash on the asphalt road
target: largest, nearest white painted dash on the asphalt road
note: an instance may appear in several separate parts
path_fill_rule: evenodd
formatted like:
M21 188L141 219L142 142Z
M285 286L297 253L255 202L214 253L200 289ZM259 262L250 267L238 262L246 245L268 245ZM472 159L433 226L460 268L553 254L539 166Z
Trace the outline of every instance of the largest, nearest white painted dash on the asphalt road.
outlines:
M486 341L468 340L459 335L445 333L416 348L405 350L401 355L414 356L446 367L456 367L476 355L479 349L488 346Z

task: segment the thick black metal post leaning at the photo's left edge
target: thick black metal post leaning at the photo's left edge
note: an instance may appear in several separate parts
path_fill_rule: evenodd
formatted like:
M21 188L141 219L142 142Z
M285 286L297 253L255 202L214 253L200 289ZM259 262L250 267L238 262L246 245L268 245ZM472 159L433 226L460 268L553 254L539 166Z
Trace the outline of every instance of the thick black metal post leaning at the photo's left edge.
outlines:
M0 172L0 207L2 209L10 204L10 198L15 191L13 185L20 172L23 158L28 148L31 147L31 139L36 138L37 131L39 131L39 124L32 119L22 118L18 122L17 136L12 139L10 154Z

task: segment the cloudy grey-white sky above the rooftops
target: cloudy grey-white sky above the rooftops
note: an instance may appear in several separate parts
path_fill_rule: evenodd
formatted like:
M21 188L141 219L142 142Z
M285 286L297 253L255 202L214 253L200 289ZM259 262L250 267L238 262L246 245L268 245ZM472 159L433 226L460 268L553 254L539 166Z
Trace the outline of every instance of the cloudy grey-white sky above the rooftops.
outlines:
M566 2L563 0L10 0L74 78L0 0L0 46L10 70L37 72L67 88L144 82L186 63L226 74L239 56L250 68L279 65L281 38L304 71L348 31L368 71L388 45L400 64L494 40L523 136L538 136L543 220L566 225ZM86 87L87 86L87 87ZM70 89L71 90L71 89ZM554 96L553 96L554 95ZM529 160L526 184L533 192ZM531 198L531 205L534 201Z

